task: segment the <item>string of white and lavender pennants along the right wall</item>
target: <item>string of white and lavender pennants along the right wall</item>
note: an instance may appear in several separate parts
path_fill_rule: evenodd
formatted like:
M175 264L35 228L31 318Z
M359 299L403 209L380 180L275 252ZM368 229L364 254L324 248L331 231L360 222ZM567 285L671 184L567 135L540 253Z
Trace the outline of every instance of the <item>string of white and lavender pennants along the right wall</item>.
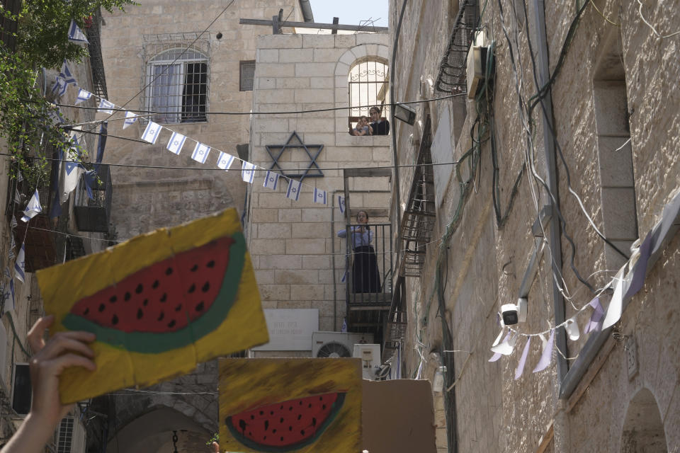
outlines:
M553 357L553 348L555 347L555 331L558 328L564 328L567 338L571 341L576 341L581 338L581 335L586 335L593 332L604 331L616 324L623 314L623 303L630 299L635 294L640 292L644 286L645 277L647 275L647 267L650 258L659 252L662 244L672 231L672 226L679 224L677 220L680 215L680 190L673 197L662 212L662 219L655 227L647 233L645 239L640 243L640 239L631 246L631 255L616 275L601 289L590 302L581 307L570 319L549 328L547 331L540 333L521 333L514 328L505 326L502 318L499 316L499 323L501 331L494 340L491 346L491 351L494 352L489 362L496 362L503 355L511 355L520 337L526 338L526 343L519 359L517 368L515 370L514 379L519 379L523 374L526 366L528 352L531 348L531 339L534 337L540 338L541 341L541 355L533 372L540 372L550 365ZM606 309L603 308L600 297L607 289L613 287L613 295ZM578 316L588 310L591 310L590 317L585 323L583 330L579 328ZM507 331L506 331L507 329ZM503 335L505 333L505 336ZM548 339L545 338L548 335ZM564 356L564 352L557 352Z

